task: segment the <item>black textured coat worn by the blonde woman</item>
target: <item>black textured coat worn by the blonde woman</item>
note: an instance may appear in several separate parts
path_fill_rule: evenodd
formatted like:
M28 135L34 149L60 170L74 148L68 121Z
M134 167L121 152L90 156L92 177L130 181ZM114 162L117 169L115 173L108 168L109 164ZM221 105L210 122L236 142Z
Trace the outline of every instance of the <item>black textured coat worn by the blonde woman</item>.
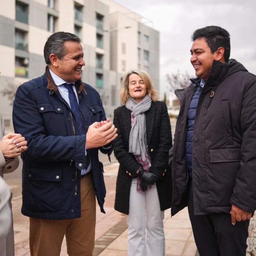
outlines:
M148 154L151 159L150 171L160 178L156 182L161 211L171 207L172 177L168 166L168 152L172 146L172 134L167 107L164 102L152 102L146 114L146 136ZM131 112L125 106L114 111L114 125L118 137L114 154L120 163L117 182L115 210L129 214L129 200L132 179L141 164L129 153Z

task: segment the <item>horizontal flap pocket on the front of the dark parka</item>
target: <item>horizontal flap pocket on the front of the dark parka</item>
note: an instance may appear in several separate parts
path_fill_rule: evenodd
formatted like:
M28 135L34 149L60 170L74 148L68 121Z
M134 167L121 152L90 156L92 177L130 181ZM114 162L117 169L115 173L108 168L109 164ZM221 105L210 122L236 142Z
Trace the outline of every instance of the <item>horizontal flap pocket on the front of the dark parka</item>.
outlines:
M241 161L241 148L218 148L210 150L211 163Z

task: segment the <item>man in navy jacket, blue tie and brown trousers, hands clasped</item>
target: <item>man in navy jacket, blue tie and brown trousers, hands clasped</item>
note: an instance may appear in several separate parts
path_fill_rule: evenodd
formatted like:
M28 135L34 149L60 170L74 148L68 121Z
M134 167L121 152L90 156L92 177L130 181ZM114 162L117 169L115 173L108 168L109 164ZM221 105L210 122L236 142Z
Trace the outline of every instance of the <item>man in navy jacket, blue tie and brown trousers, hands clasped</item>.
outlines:
M13 106L15 132L28 141L22 154L22 213L30 220L32 256L93 255L96 198L106 189L98 149L110 156L116 128L98 92L81 81L80 39L56 32L44 46L45 73L20 85Z

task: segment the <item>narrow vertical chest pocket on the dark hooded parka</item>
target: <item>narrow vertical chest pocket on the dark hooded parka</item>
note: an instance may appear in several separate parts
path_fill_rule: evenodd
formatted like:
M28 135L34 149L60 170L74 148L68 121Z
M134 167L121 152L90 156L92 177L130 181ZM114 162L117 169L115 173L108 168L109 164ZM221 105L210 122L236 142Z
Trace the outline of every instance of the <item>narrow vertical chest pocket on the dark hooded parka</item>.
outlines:
M227 145L234 144L233 142L233 131L232 131L232 116L230 110L230 100L222 100L222 116L225 126L226 143Z

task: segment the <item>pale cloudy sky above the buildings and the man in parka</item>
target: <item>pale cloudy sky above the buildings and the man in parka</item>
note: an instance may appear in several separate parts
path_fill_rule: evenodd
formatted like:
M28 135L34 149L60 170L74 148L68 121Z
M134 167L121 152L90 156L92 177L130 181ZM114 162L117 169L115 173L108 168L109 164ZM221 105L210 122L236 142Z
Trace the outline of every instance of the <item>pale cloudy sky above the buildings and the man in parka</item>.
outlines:
M209 25L230 33L231 55L256 74L256 0L115 0L153 21L160 31L160 86L166 90L166 74L188 72L191 34Z

